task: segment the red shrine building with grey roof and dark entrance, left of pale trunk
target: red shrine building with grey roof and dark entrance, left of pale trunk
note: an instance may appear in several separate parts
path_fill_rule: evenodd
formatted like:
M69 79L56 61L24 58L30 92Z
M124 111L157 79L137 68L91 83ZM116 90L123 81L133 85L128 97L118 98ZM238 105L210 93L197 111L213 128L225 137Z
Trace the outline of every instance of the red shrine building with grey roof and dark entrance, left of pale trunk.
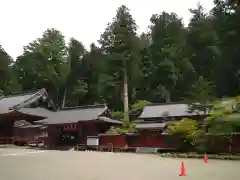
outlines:
M48 146L76 145L86 144L88 136L105 133L112 125L121 125L121 121L109 116L106 105L68 107L37 123L47 126L45 142Z

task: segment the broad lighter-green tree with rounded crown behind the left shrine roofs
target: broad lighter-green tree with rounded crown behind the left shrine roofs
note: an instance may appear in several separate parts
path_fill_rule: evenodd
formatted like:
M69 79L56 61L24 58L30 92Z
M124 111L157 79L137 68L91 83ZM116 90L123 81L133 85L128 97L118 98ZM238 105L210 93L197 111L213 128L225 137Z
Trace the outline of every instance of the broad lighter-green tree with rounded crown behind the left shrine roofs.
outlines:
M32 67L40 81L45 84L54 96L55 102L61 104L63 85L70 72L67 48L62 33L56 29L47 29L41 38L24 47L24 57L31 57Z

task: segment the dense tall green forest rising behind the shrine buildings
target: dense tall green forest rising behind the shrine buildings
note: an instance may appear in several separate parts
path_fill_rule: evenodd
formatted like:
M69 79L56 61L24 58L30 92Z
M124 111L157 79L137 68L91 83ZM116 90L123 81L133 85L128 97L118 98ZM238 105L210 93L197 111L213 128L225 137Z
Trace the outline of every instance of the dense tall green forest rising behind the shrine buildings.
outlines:
M90 50L74 38L67 44L54 28L16 59L0 46L0 96L46 88L59 107L106 103L116 112L124 110L125 97L131 108L140 101L238 96L239 4L215 0L208 13L198 5L187 26L174 12L153 14L141 34L122 5Z

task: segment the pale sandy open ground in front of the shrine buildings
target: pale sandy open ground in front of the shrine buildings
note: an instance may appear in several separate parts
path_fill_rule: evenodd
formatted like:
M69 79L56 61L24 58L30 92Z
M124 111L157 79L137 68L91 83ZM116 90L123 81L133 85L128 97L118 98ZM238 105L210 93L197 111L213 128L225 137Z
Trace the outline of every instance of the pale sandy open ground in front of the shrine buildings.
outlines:
M181 159L110 152L0 148L1 180L237 180L240 161Z

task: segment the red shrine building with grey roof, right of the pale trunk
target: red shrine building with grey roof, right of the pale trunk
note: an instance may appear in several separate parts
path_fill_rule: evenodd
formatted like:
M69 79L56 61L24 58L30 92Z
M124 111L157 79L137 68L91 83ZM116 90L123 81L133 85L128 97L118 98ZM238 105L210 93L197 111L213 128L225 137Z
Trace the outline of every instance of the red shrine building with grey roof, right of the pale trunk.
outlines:
M164 133L169 123L183 118L201 122L207 115L204 111L191 110L186 103L148 104L142 109L136 124L140 134L138 144L159 149L180 148L178 137Z

